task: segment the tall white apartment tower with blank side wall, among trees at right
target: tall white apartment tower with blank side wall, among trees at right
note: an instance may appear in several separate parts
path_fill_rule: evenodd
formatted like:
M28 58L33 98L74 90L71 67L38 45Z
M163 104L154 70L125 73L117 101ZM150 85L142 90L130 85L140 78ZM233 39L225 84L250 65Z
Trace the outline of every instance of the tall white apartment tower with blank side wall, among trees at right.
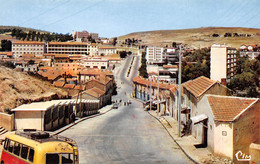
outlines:
M213 44L210 51L210 78L230 82L236 74L237 50L227 45Z

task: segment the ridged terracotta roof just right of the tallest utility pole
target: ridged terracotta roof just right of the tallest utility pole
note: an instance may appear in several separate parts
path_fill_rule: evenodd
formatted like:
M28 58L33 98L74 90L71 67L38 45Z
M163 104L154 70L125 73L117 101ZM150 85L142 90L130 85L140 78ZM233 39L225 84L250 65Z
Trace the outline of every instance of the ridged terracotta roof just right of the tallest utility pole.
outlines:
M211 80L205 76L200 76L194 80L189 80L182 85L195 97L199 97L216 83L217 81Z

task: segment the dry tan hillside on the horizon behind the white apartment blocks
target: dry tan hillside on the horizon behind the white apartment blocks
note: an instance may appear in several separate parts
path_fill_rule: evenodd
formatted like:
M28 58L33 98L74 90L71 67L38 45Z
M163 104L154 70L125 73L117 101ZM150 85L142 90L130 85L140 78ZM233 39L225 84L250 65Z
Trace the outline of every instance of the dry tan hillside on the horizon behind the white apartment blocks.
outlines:
M249 37L224 37L225 33L246 34ZM213 37L218 34L219 37ZM192 48L209 47L213 43L229 44L239 48L242 44L259 44L260 29L253 28L228 28L228 27L208 27L184 30L160 30L137 32L118 37L118 43L122 43L127 38L142 40L140 44L152 46L171 46L172 42L187 44Z

